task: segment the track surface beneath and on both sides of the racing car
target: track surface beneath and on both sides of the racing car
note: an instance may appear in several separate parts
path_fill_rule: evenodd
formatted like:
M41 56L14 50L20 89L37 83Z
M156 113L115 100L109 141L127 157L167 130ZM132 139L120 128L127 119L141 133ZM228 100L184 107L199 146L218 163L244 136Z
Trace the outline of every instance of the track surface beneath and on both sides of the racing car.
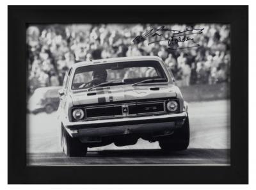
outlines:
M88 148L87 157L69 158L59 145L56 113L28 114L27 162L30 166L106 164L230 164L230 101L189 102L188 150L164 154L158 143Z

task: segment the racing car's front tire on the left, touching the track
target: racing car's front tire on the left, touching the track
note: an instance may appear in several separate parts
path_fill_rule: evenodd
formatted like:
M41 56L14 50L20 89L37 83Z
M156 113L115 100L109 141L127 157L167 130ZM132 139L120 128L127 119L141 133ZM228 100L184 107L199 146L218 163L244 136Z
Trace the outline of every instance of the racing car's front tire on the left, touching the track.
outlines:
M87 146L84 146L83 143L77 138L72 138L65 127L61 125L61 145L63 152L68 157L84 157L87 153Z

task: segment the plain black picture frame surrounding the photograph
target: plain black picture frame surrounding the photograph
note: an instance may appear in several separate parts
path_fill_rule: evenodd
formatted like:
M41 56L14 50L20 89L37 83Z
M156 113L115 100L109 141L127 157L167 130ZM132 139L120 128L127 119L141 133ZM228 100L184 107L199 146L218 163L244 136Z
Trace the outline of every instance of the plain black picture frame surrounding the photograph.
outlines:
M230 166L27 166L26 26L231 24ZM248 6L8 6L8 184L248 184Z

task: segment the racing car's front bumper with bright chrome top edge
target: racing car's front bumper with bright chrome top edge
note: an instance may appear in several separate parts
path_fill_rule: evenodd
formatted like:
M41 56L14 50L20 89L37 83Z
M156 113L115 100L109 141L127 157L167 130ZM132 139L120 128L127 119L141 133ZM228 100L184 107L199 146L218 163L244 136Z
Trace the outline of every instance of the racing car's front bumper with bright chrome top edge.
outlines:
M173 131L184 122L186 112L155 116L114 118L63 123L72 137L113 136L143 132ZM177 124L179 123L179 124Z

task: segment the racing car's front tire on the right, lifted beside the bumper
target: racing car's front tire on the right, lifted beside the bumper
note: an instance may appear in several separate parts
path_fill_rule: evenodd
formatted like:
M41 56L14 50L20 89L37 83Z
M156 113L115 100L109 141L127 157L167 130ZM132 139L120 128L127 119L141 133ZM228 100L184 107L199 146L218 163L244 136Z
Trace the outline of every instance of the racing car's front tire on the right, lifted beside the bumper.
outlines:
M189 145L189 118L187 117L183 126L176 129L170 136L159 139L159 146L164 152L186 150Z

